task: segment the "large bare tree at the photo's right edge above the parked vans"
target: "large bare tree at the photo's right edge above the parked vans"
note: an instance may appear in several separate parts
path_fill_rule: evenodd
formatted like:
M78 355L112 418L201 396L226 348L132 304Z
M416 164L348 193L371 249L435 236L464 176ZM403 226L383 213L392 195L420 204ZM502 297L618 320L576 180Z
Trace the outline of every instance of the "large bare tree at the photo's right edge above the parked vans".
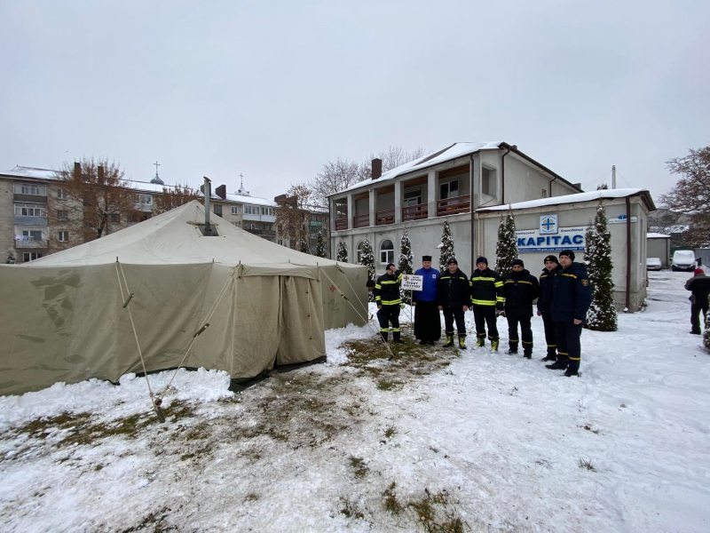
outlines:
M690 229L683 240L690 246L710 243L710 147L690 149L689 155L666 162L680 179L660 201L670 210L688 215Z

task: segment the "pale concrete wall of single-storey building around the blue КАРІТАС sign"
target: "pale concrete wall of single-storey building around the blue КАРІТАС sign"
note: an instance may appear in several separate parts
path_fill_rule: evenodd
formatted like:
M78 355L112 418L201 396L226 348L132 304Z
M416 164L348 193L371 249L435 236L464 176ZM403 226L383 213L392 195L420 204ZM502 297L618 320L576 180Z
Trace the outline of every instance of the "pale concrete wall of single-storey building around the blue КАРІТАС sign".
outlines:
M557 214L559 227L588 226L596 216L598 201L584 203L561 204L545 208L514 211L516 229L537 229L540 227L540 216ZM604 200L606 215L612 219L619 215L626 215L626 201L624 198ZM476 235L477 252L480 251L490 262L495 262L495 248L498 241L498 226L500 211L480 213L480 224L477 224ZM631 272L630 272L630 301L629 310L638 311L639 306L646 298L646 217L648 211L638 197L631 198L631 216L637 222L631 223ZM479 228L479 229L478 229ZM613 260L614 301L617 310L622 311L626 306L627 282L627 225L610 224L611 256ZM559 251L549 252L558 255ZM525 262L525 268L532 274L540 274L543 268L543 259L548 252L521 253L520 259ZM583 261L584 252L575 252L575 261Z

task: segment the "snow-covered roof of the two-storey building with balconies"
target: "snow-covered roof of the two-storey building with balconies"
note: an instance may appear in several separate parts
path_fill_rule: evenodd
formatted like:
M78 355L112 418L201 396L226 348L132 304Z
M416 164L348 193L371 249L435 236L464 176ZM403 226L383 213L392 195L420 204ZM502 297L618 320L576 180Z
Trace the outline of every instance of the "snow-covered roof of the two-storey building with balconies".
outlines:
M332 195L328 195L328 196L340 195L340 194L343 194L344 192L347 192L347 191L359 189L360 187L369 187L373 183L382 183L383 181L397 178L398 176L402 176L403 174L408 174L410 172L415 172L415 171L422 171L422 170L427 169L431 166L435 166L440 163L446 163L447 161L452 161L454 159L458 159L459 157L462 157L464 155L477 154L478 152L480 152L482 150L500 150L500 149L508 149L511 153L520 156L522 159L525 159L525 161L527 161L529 163L533 163L534 166L540 168L542 171L548 172L548 174L555 177L555 179L560 179L560 180L564 181L564 183L566 183L567 185L574 187L574 185L572 183L570 183L569 181L564 179L562 176L559 176L555 172L549 170L546 166L538 163L529 155L525 155L523 152L518 150L517 146L515 146L515 145L509 145L507 142L504 142L504 141L454 142L453 145L446 147L442 150L432 152L429 155L424 155L423 157L420 157L418 159L414 159L414 161L410 161L409 163L401 164L397 168L394 168L390 171L386 171L378 179L366 179L363 181L359 181L358 183L351 185L350 187L344 188L342 191L338 191L337 193L333 193ZM579 189L579 187L576 187L576 188ZM579 190L581 191L581 189L579 189Z

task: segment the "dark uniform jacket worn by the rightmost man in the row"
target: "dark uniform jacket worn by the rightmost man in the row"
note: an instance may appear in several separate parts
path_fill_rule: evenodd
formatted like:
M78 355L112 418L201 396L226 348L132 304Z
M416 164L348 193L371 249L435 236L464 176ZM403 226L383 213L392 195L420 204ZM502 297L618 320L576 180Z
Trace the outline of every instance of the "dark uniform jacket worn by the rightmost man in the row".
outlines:
M592 286L589 284L587 266L572 263L557 271L553 278L555 287L552 295L552 320L572 323L574 320L587 322L587 312L592 305Z

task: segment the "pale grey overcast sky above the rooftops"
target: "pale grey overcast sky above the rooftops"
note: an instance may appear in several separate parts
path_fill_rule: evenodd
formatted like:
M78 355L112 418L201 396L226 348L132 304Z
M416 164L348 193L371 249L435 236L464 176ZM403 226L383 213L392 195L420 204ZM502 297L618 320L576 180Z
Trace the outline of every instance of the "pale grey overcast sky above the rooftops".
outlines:
M708 22L706 0L2 0L0 170L157 160L272 198L338 156L505 140L658 198L710 144Z

